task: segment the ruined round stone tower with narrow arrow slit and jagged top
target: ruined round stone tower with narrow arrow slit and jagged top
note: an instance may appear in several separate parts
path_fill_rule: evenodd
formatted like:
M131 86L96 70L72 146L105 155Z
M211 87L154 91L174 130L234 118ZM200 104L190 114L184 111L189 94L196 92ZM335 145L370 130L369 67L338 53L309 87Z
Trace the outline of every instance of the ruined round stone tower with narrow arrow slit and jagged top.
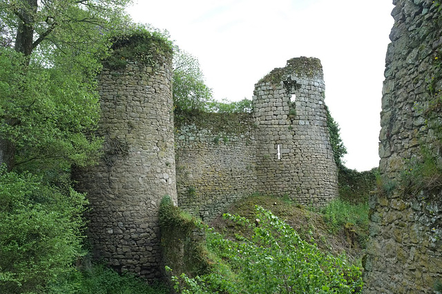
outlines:
M300 57L255 86L258 192L323 206L338 195L319 59ZM279 155L278 155L279 151Z

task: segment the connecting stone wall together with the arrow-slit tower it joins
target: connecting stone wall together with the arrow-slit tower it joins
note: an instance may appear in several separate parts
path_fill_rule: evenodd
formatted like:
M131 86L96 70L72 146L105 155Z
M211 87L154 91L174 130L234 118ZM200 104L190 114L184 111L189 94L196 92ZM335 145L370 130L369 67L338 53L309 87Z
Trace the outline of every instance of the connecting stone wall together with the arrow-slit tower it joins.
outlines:
M180 208L209 220L256 192L312 206L336 197L324 91L319 59L295 58L256 84L253 117L237 122L247 126L242 130L220 120L180 126L175 135ZM296 101L290 101L293 94Z

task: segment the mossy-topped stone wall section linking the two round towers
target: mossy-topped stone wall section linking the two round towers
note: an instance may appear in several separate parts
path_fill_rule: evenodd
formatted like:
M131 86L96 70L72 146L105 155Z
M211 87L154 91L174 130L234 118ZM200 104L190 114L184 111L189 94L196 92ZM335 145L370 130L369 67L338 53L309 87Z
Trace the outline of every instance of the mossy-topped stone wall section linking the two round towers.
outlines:
M200 114L177 128L178 206L209 221L256 192L256 144L249 115Z

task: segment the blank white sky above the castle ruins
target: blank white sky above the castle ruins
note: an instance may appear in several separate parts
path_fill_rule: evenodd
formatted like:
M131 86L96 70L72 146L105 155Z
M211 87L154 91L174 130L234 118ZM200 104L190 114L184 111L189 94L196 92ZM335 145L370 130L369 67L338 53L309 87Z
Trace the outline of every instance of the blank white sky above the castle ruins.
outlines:
M317 57L345 165L378 166L379 112L391 0L135 0L134 21L168 30L200 61L215 99L251 99L256 82L293 57Z

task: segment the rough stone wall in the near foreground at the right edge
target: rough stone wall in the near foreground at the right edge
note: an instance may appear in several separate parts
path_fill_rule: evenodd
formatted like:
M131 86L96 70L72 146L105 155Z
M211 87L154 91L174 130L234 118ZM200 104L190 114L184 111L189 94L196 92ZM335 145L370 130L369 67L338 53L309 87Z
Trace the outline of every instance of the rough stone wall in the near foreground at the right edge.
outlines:
M394 1L381 112L383 186L370 199L365 293L434 293L442 282L441 185L427 182L441 173L431 168L441 164L438 2Z

